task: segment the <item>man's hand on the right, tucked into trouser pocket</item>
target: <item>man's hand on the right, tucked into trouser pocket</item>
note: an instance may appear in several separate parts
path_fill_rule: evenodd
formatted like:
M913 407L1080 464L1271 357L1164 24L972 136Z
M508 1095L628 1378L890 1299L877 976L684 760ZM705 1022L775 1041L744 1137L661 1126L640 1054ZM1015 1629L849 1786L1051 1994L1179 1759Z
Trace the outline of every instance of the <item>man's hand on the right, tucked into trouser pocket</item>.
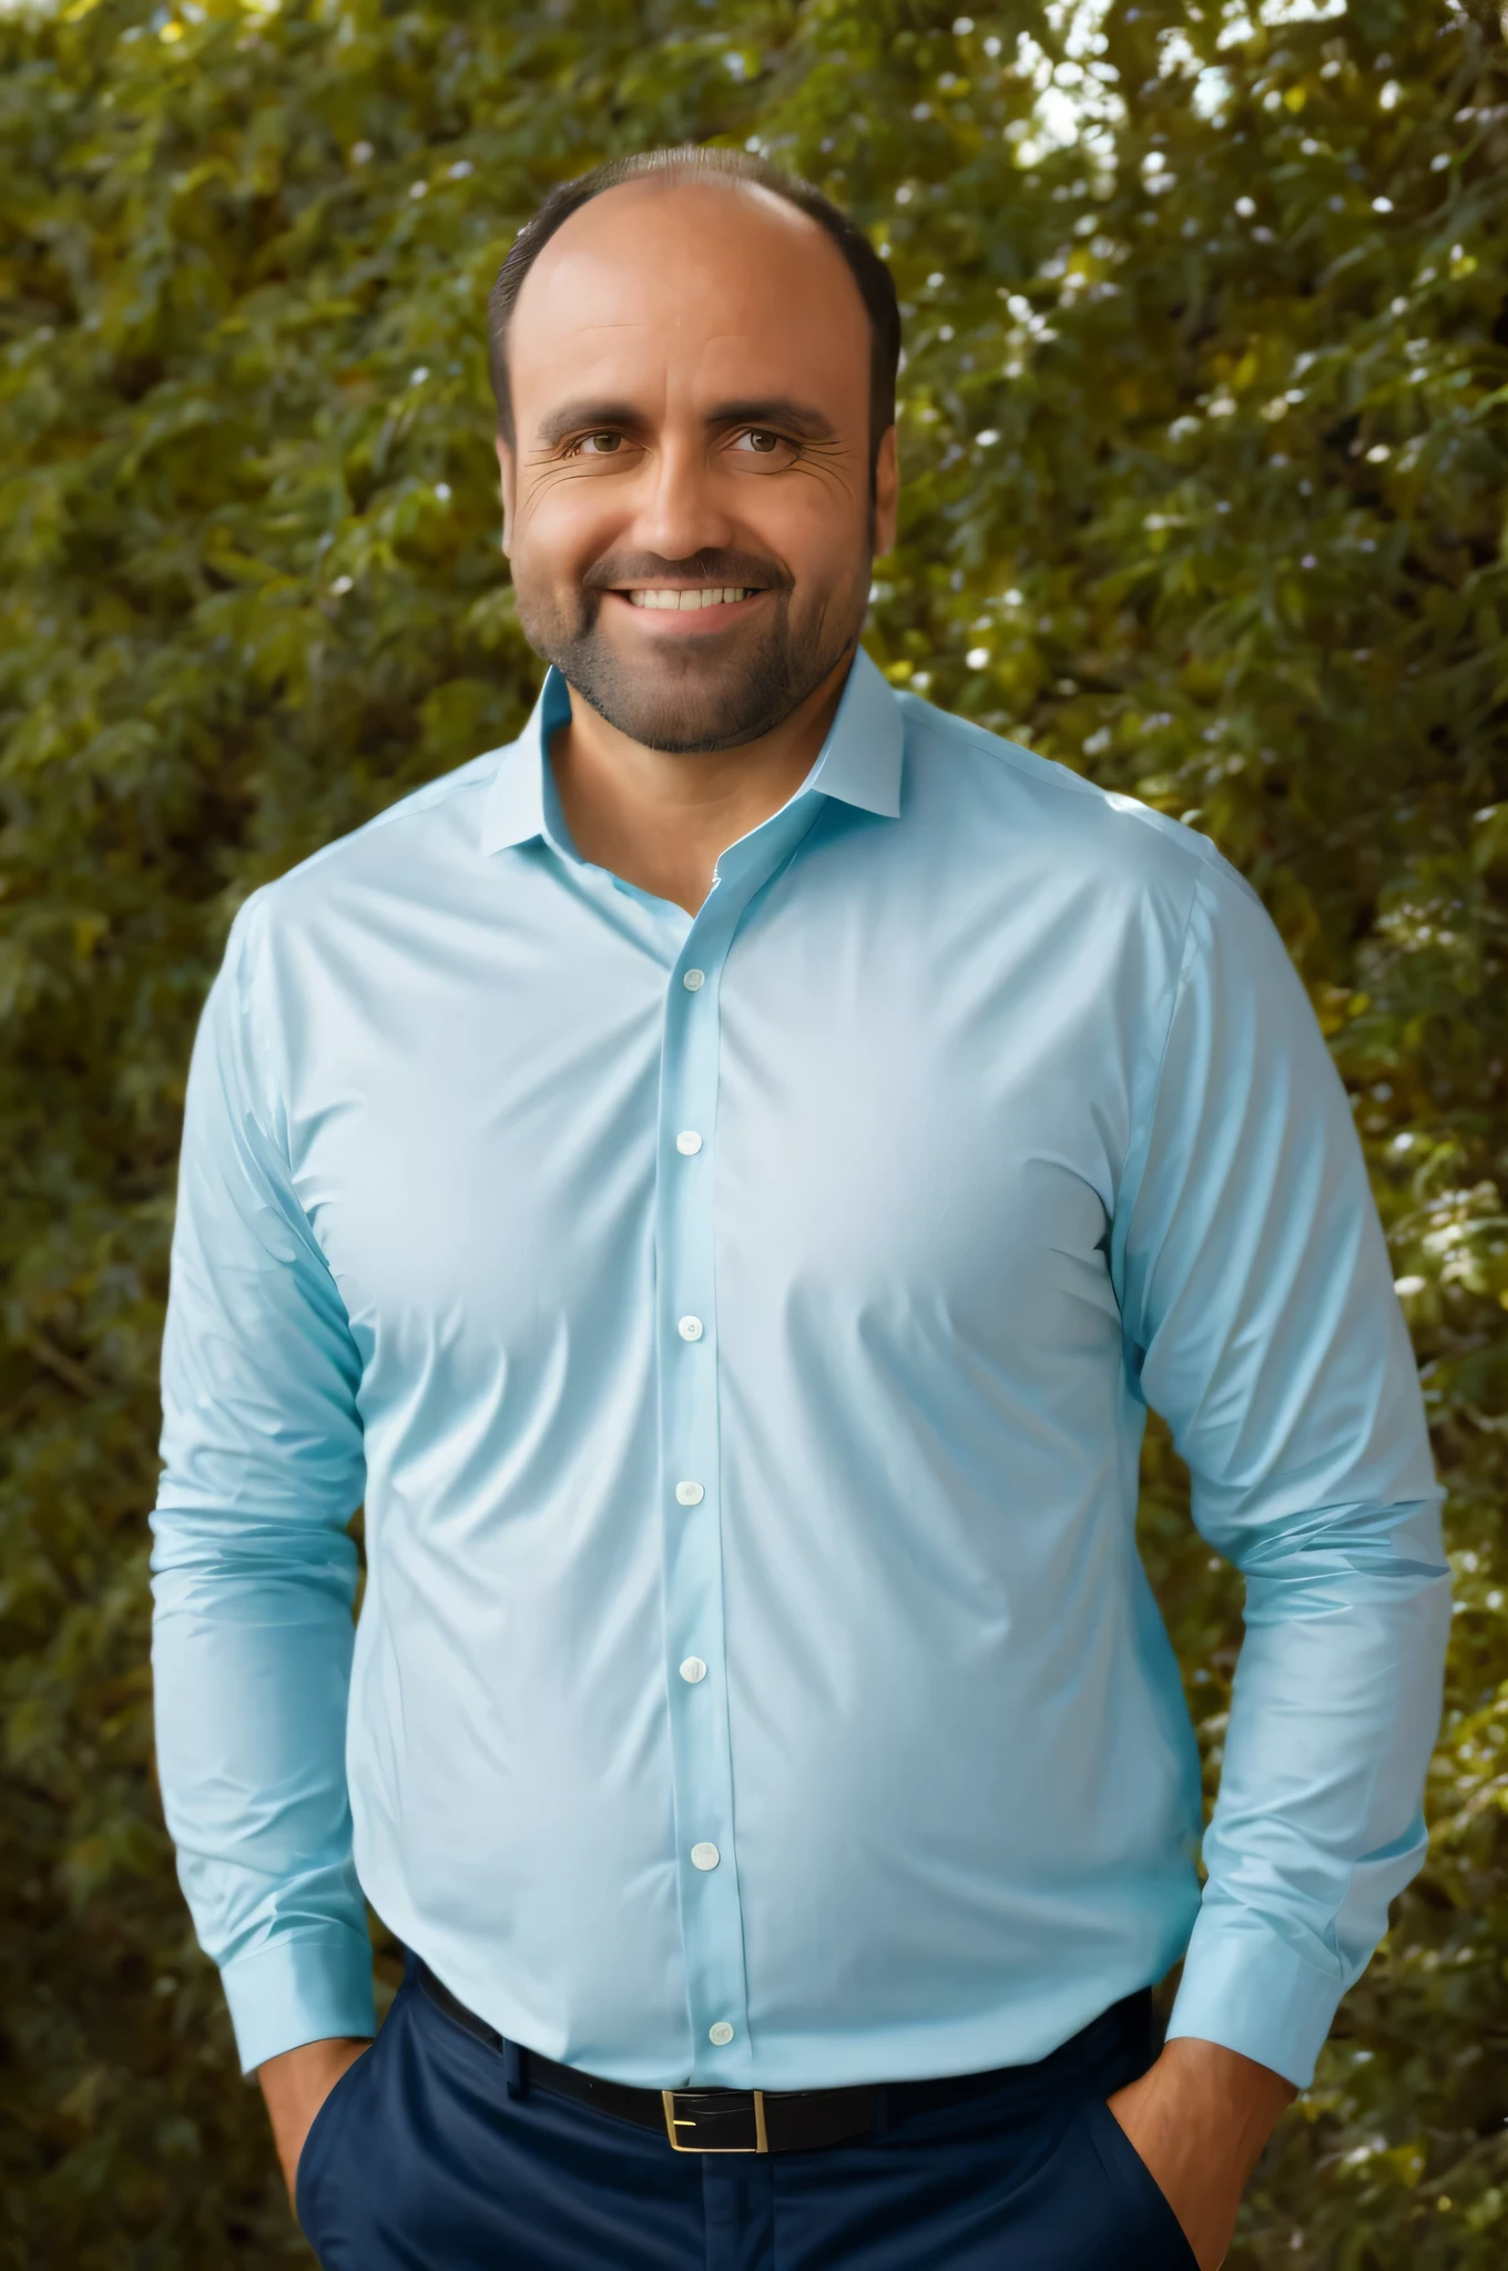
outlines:
M1279 2114L1297 2096L1272 2067L1217 2042L1170 2042L1111 2112L1183 2226L1199 2271L1224 2262L1235 2210Z

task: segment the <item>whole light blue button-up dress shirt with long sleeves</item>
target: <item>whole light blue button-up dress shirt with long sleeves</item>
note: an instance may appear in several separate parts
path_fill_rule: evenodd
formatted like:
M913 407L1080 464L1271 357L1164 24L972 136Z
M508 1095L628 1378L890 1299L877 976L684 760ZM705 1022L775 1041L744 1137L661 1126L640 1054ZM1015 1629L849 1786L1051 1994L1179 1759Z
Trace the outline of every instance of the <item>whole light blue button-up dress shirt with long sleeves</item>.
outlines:
M563 715L259 890L195 1047L157 1726L243 2062L370 2030L366 1892L625 2083L1036 2060L1186 1949L1174 2033L1306 2083L1447 1572L1276 931L863 656L690 917L575 852ZM1204 1896L1147 1406L1247 1581Z

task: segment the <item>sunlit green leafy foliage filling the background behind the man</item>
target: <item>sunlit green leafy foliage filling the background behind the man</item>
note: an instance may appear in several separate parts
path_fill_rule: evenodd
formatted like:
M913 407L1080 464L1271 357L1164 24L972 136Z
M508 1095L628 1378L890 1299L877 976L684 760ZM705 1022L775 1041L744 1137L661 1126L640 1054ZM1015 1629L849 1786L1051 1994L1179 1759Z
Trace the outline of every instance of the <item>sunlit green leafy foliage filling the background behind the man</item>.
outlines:
M1215 836L1356 1097L1449 1717L1429 1871L1233 2262L1503 2262L1508 59L1465 7L0 14L2 2264L309 2262L150 1762L184 1065L241 897L522 720L486 286L550 182L681 139L756 139L893 259L874 654ZM1145 1483L1213 1778L1238 1585L1158 1433Z

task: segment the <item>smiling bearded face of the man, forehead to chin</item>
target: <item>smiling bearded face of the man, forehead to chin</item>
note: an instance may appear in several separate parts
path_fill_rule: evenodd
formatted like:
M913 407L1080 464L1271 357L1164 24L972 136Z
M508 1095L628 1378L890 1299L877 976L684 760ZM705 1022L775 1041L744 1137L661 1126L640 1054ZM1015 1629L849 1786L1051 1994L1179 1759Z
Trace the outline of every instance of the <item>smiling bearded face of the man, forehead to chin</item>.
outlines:
M634 182L556 232L509 327L518 618L654 749L772 731L858 636L895 534L870 495L870 318L831 238L765 191Z

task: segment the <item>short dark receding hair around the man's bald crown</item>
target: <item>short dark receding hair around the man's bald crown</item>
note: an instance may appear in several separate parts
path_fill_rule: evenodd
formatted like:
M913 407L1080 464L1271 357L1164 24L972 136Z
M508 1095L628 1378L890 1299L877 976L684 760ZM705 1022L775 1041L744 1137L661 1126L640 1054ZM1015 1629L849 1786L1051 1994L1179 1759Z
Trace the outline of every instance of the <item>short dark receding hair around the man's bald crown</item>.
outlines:
M497 270L497 282L486 302L486 343L493 395L497 397L497 429L509 447L513 447L509 320L525 277L554 232L572 213L579 213L584 204L590 204L593 198L618 188L622 182L640 182L645 177L695 182L706 175L768 188L774 198L784 198L786 204L795 204L799 213L815 220L820 229L827 229L838 245L870 316L870 466L874 466L881 436L886 427L895 425L895 372L902 354L902 311L895 300L890 270L863 229L831 198L813 188L811 182L802 182L793 173L781 173L779 166L754 157L749 150L713 150L699 143L688 143L679 150L640 150L634 157L613 157L604 166L593 166L590 173L577 175L575 182L561 182L550 191L534 220L527 220L513 238L513 250Z

